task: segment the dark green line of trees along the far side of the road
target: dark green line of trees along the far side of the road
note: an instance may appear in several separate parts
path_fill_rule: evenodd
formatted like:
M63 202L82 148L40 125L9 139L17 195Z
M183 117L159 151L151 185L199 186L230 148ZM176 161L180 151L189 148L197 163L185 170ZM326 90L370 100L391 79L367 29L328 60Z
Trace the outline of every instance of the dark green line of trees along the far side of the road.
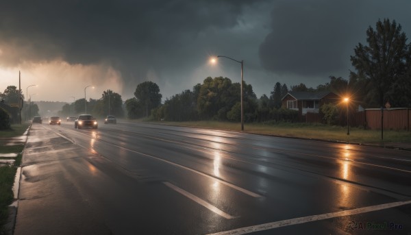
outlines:
M377 21L375 28L370 26L366 30L366 42L366 45L359 43L350 57L355 71L350 71L348 79L329 76L329 82L316 88L301 83L290 86L290 91L330 91L341 97L349 96L353 105L364 108L384 107L386 102L392 108L411 107L411 43L407 43L401 25L388 19ZM251 84L243 82L242 85L246 122L297 120L296 111L282 107L282 98L289 91L286 84L275 83L270 95L264 94L260 98L256 97ZM19 97L23 95L15 86L0 92L0 98L11 103L18 102ZM157 84L143 82L136 87L134 97L127 99L124 105L121 95L107 90L101 99L78 99L64 105L60 114L82 113L87 103L87 110L95 116L110 113L121 117L124 108L129 119L240 121L240 83L233 83L227 77L207 77L202 84L173 95L163 104L161 99ZM325 116L329 116L329 110L335 108L321 110L327 110Z

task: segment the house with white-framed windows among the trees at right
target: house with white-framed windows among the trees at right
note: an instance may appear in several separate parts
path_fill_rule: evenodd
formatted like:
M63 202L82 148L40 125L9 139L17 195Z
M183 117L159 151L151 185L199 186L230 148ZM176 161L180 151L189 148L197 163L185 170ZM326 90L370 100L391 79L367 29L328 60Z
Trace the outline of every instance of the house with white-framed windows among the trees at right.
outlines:
M299 111L299 116L308 112L319 113L325 103L336 103L341 99L334 92L290 91L282 98L282 107Z

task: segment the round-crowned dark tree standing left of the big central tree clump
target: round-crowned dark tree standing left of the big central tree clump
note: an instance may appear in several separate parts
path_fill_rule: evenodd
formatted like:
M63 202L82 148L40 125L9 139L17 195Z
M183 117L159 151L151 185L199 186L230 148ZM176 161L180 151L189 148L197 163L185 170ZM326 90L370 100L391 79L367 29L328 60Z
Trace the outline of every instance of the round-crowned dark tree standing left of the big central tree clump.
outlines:
M147 81L138 84L134 95L139 102L144 104L147 117L149 110L157 108L161 104L160 88L154 82Z

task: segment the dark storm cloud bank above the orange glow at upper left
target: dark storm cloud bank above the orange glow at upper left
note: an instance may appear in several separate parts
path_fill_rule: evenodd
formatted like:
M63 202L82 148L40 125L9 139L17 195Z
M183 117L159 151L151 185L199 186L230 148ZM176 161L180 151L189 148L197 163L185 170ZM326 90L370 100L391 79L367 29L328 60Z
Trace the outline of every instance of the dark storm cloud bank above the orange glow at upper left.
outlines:
M145 70L208 27L232 27L242 1L8 1L0 7L9 64L63 58L72 64L108 60L127 73ZM19 50L19 48L21 50ZM127 69L126 69L127 68Z

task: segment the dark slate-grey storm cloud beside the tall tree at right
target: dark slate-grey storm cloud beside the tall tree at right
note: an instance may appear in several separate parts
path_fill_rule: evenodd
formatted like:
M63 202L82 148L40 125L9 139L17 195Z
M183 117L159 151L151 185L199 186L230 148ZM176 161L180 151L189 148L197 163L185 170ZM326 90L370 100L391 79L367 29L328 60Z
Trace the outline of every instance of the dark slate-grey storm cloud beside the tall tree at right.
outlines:
M401 23L399 20L408 15L406 5L410 4L371 0L277 1L271 12L271 33L260 45L262 66L274 73L307 77L346 71L346 77L351 69L349 55L358 42L365 42L366 29L375 27L379 18Z

